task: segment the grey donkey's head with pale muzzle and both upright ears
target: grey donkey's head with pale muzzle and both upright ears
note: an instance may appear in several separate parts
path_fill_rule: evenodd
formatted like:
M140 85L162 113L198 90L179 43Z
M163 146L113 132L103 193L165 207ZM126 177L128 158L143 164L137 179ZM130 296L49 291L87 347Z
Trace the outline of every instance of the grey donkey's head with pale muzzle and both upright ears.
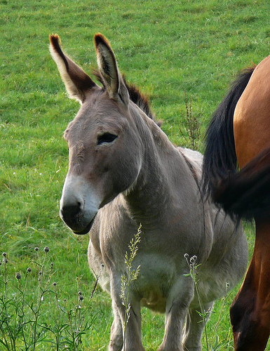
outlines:
M65 131L69 171L62 190L60 216L76 234L86 234L99 208L136 182L142 143L109 41L96 34L97 65L103 87L62 52L58 35L50 36L50 53L71 98L81 109Z

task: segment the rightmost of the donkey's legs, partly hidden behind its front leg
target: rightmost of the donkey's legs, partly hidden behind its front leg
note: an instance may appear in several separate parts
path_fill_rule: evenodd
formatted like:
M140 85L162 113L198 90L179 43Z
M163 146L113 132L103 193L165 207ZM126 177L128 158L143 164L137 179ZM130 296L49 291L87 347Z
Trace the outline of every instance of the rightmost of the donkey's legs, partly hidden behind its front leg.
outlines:
M209 317L214 303L203 306L205 312L205 322ZM184 326L184 351L201 351L201 337L203 336L203 317L198 313L199 308L189 309L186 324Z

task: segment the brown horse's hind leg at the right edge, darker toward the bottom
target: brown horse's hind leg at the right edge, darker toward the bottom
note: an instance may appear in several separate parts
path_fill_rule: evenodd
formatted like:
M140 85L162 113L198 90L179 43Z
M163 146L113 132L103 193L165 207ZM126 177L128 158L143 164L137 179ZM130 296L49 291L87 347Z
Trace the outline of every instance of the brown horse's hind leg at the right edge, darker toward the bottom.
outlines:
M236 351L263 351L270 332L270 221L256 220L256 241L241 290L231 305Z

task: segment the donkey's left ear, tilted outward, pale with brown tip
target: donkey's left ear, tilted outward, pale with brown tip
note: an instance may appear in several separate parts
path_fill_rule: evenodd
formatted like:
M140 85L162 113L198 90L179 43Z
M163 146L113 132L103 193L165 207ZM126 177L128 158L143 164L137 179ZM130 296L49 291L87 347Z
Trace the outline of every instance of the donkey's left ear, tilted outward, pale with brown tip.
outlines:
M50 35L50 54L58 65L58 70L65 83L69 97L83 102L86 92L96 84L81 67L62 52L60 37L57 34Z

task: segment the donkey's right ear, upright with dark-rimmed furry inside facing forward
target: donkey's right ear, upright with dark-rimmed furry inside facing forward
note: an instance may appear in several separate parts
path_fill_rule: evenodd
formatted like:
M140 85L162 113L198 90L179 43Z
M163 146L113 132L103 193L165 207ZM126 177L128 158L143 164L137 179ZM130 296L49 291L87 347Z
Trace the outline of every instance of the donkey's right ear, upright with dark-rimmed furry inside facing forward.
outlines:
M109 41L102 34L97 33L95 34L94 42L97 53L97 65L109 97L112 99L120 97L128 105L128 89L117 67L114 51L112 51Z

